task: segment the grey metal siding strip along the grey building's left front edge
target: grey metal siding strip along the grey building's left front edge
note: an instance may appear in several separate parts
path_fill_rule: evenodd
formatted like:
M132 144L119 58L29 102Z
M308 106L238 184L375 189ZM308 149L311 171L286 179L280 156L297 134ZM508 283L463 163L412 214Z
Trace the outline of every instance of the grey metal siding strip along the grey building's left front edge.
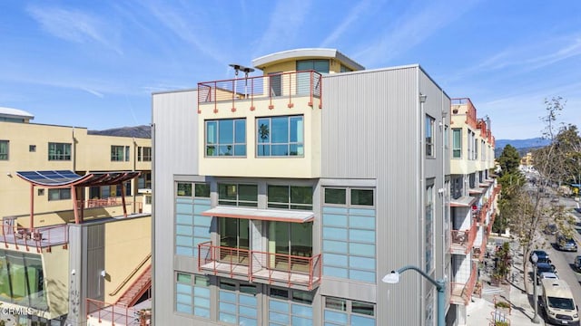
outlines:
M173 308L173 175L198 174L197 103L197 91L153 94L154 280L161 280L153 282L156 325L193 323Z

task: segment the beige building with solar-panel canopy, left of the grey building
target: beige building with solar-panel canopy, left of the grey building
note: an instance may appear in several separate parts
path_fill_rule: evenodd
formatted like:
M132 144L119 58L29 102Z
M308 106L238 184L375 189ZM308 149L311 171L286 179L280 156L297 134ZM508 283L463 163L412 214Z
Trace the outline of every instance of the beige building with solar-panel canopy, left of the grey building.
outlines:
M128 306L151 287L151 213L137 191L151 187L151 139L33 119L0 108L0 321L111 320L104 302L133 321Z

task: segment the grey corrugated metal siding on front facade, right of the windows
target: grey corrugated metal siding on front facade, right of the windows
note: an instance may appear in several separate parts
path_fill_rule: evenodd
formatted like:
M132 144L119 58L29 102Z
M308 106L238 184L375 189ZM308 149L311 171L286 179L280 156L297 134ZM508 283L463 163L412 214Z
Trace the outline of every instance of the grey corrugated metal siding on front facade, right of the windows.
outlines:
M418 67L330 75L323 85L321 176L377 178L379 279L419 265ZM378 306L389 307L378 324L421 324L421 281L378 280Z

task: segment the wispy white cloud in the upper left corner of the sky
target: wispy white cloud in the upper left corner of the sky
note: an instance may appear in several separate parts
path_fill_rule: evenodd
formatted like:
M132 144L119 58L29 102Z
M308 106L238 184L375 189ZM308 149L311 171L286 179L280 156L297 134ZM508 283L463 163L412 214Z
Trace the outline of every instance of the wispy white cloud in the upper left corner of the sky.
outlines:
M110 23L79 10L29 5L27 12L49 34L73 43L95 42L123 54Z

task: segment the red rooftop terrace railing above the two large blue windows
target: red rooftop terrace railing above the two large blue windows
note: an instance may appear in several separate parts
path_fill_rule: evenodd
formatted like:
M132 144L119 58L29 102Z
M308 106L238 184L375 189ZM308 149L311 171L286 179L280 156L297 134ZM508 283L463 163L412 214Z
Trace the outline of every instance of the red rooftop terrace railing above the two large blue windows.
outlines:
M296 97L309 97L309 105L314 105L313 99L321 98L322 79L319 72L281 72L268 76L237 78L232 80L199 82L198 83L198 113L202 106L212 104L214 112L218 112L219 102L231 102L231 110L237 108L255 110L255 100L269 101L269 109L273 109L274 99L288 99L287 106L294 106ZM321 103L319 103L321 107Z

